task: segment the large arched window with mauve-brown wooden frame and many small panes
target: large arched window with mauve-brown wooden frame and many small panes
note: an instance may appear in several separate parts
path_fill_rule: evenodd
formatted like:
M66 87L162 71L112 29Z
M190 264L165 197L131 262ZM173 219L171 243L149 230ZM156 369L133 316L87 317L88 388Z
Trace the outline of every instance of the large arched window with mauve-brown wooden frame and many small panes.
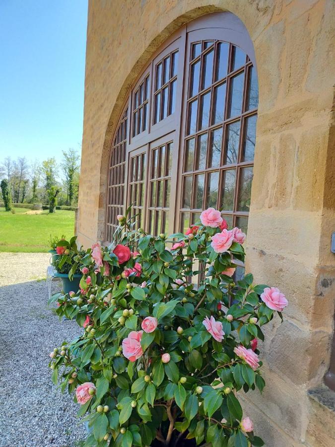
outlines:
M209 14L171 36L132 86L113 139L106 241L130 204L155 234L184 231L210 206L246 232L257 107L254 49L236 16Z

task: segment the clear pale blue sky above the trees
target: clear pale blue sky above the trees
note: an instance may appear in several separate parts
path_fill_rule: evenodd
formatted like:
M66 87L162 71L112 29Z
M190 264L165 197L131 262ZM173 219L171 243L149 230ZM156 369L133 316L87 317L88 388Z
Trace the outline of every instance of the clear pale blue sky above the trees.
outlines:
M0 162L82 139L87 0L0 0Z

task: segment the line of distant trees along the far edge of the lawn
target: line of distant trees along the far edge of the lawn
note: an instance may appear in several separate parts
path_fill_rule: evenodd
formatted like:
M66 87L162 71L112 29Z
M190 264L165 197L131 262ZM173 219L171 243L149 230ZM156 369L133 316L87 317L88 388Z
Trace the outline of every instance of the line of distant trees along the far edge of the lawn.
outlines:
M0 164L1 189L13 203L76 206L79 173L80 154L75 149L63 150L60 164L55 157L29 162L26 157L6 156Z

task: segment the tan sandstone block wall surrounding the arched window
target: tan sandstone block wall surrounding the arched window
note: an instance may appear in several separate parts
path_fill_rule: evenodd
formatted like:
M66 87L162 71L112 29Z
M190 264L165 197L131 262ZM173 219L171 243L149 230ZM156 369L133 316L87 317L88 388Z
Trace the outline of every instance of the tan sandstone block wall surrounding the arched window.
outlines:
M308 390L322 384L334 330L333 0L89 1L78 239L103 238L108 148L132 82L173 31L217 10L244 22L258 68L247 269L289 300L262 346L268 385L245 409L267 446L330 447L334 413Z

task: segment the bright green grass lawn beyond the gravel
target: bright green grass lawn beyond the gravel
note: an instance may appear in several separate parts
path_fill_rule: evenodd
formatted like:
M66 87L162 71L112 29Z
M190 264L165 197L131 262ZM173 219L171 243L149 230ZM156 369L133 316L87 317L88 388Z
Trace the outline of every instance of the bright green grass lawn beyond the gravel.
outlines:
M52 236L69 238L74 233L74 211L57 210L50 214L26 214L25 208L14 208L15 214L0 208L0 251L37 253L50 250Z

